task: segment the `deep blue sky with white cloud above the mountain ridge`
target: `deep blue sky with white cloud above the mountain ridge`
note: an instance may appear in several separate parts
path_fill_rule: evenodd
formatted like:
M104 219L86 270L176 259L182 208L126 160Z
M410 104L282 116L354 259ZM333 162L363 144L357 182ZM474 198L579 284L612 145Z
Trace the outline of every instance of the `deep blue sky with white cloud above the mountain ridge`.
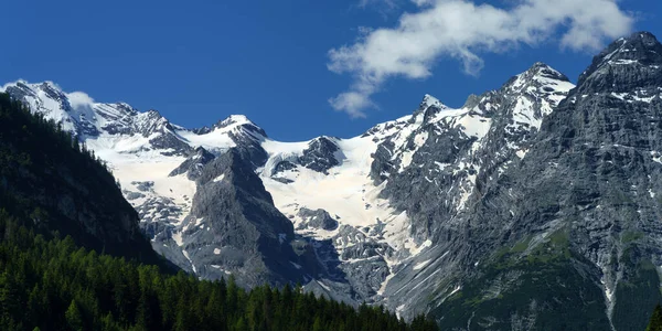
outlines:
M546 17L559 11L552 0L523 2L10 1L0 83L53 81L185 127L244 114L279 140L352 137L410 114L426 93L459 107L536 61L576 81L612 35L662 34L661 1L573 0L599 15L568 8L558 18ZM551 23L536 25L538 14ZM460 33L435 30L455 19L468 24ZM345 93L359 99L338 103Z

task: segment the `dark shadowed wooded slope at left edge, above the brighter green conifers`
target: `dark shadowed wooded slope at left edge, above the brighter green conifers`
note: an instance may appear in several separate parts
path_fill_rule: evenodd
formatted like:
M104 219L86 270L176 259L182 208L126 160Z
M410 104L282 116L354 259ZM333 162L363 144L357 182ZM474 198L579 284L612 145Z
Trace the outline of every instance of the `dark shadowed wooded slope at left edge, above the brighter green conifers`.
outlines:
M94 154L52 121L0 94L0 207L39 233L146 263L161 259L138 214Z

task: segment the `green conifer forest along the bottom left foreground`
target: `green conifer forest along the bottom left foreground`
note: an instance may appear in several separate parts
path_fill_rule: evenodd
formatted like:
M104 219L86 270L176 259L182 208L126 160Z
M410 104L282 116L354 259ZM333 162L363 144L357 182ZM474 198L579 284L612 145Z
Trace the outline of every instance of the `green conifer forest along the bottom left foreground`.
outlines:
M286 286L245 291L77 248L0 210L0 330L436 330Z

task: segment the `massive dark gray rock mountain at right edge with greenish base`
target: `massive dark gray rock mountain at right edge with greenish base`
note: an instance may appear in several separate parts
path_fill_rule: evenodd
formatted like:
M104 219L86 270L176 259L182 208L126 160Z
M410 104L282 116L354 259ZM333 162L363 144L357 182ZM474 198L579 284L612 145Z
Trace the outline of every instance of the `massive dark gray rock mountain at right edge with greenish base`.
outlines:
M645 328L661 299L661 50L649 33L612 43L525 158L480 185L458 215L462 289L431 305L452 316L442 327Z

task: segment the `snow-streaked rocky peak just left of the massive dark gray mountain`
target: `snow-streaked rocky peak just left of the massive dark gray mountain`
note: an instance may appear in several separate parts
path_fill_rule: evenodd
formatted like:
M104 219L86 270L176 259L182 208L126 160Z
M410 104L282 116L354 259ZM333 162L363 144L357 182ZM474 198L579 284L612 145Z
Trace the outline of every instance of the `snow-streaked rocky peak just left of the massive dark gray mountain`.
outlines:
M523 158L543 117L572 87L563 74L536 63L499 90L470 97L459 111L427 96L409 130L377 147L371 175L385 181L381 196L412 215L418 241L444 236L437 221L467 207L480 180L499 178Z

